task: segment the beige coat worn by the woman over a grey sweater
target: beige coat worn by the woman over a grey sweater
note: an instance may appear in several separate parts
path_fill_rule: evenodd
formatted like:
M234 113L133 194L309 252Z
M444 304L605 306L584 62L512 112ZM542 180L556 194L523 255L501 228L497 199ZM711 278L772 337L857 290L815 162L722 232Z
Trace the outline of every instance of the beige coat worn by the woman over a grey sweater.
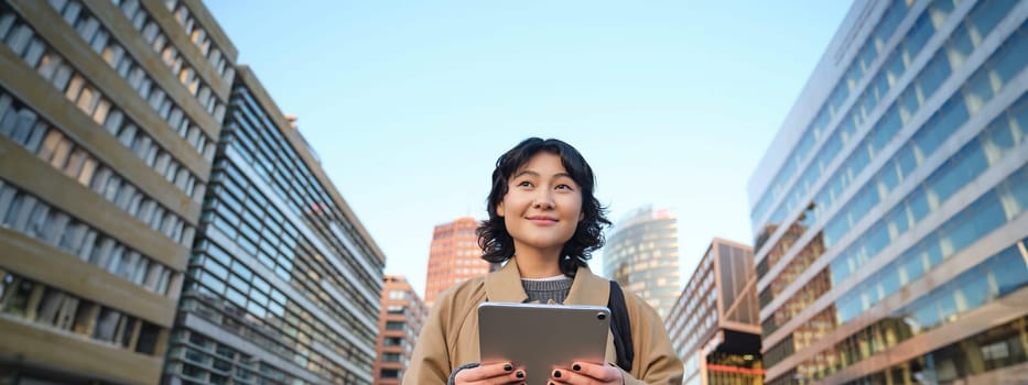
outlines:
M569 305L606 306L610 293L607 279L580 267L567 293ZM479 361L478 304L490 301L523 302L516 258L488 276L474 278L443 293L421 329L403 384L445 384L454 369ZM638 296L625 292L625 305L631 322L635 346L632 370L625 384L681 384L682 362L671 348L663 322ZM607 362L616 362L614 337L607 333ZM636 380L638 378L638 380Z

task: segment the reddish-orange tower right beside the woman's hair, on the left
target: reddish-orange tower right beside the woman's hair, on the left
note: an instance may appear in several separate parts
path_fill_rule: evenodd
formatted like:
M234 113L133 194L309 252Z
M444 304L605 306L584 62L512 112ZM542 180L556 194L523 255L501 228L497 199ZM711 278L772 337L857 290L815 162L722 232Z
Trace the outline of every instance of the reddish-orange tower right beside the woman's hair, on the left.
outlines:
M457 218L432 231L429 251L429 272L425 279L425 304L432 306L435 298L447 288L469 278L489 273L489 263L481 258L475 218Z

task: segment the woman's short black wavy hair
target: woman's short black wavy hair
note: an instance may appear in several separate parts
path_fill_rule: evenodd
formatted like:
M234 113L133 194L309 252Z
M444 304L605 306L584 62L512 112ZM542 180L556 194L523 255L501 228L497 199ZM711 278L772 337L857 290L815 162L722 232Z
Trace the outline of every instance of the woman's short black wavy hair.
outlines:
M493 190L486 199L489 219L481 221L477 229L478 245L483 250L481 258L491 263L502 263L513 256L513 239L507 232L504 217L497 215L496 207L507 195L508 179L532 156L541 152L560 156L564 169L578 184L582 191L584 218L578 222L571 240L564 243L561 255L566 257L560 261L561 272L565 276L574 277L578 266L587 266L586 261L592 258L593 251L604 245L603 230L610 226L610 220L606 218L607 208L599 205L599 200L593 195L596 187L593 168L575 147L556 139L526 139L496 161L496 169L493 170Z

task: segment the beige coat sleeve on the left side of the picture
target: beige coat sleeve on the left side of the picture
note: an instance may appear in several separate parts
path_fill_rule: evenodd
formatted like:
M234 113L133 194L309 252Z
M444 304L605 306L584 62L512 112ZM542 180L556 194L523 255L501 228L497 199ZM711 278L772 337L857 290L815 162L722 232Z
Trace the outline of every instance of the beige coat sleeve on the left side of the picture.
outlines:
M418 343L411 355L410 364L403 374L403 384L446 384L450 378L450 349L446 344L443 316L448 314L450 304L440 298L429 312L429 319L421 328Z

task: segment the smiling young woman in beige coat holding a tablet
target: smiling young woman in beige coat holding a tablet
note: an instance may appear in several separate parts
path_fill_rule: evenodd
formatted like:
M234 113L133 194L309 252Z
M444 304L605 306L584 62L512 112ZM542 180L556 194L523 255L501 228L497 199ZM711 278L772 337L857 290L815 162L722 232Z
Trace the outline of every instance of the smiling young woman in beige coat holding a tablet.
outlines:
M607 279L586 265L610 224L593 196L593 170L577 150L555 139L528 139L505 153L493 172L489 219L478 228L489 262L506 265L441 295L421 330L404 384L519 384L511 363L479 365L478 304L489 301L606 306ZM631 370L616 361L607 338L607 364L567 363L552 384L680 384L682 363L657 312L625 293L634 346ZM545 346L540 346L545 349Z

